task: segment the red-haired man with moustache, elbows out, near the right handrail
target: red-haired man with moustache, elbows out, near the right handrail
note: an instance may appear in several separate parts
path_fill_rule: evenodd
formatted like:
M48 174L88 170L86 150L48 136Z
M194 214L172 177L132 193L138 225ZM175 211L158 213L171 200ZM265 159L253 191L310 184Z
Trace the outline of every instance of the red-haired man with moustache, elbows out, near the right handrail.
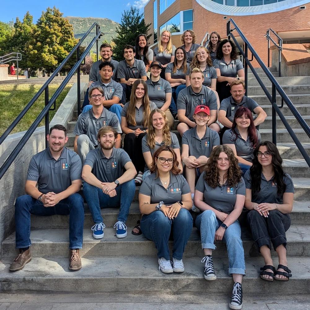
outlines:
M245 96L245 84L238 80L230 84L231 96L222 100L219 107L219 122L227 128L232 128L233 118L238 108L248 108L252 113L257 114L254 118L254 125L263 123L267 117L266 112L251 98Z

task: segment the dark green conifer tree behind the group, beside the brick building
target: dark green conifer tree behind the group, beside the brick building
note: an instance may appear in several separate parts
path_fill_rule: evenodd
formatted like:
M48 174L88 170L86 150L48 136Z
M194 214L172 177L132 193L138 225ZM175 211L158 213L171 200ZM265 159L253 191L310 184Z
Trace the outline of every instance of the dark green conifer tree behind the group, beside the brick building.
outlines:
M151 24L145 24L143 14L139 14L139 9L131 6L129 10L122 13L120 25L117 27L117 37L113 38L115 47L113 49L113 59L120 61L124 59L124 46L130 44L135 46L135 38L138 34L144 33L147 38L151 37L148 34Z

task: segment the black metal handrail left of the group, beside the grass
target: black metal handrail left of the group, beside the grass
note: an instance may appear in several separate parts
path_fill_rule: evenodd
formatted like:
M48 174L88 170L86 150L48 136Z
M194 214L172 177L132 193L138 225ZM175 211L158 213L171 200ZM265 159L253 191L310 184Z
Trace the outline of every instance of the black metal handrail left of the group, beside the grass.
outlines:
M96 35L86 47L85 51L82 55L80 55L80 46L83 40L87 37L87 35L91 32L91 30L96 27ZM24 136L20 139L19 143L16 145L16 147L13 149L13 151L8 155L7 159L3 163L3 165L0 167L0 179L5 174L9 166L12 164L16 156L20 153L21 149L24 147L28 139L31 137L33 132L36 130L40 122L45 117L45 137L47 136L49 132L49 111L51 110L51 107L53 104L55 104L56 99L60 95L60 93L63 91L64 87L68 84L70 79L72 78L73 74L77 72L77 79L78 79L78 113L81 110L81 93L80 93L80 65L84 61L87 54L90 52L92 46L97 43L98 47L98 40L103 35L103 33L100 32L100 26L97 23L94 23L90 29L85 33L85 35L81 38L81 40L77 43L77 45L73 48L73 50L69 53L69 55L63 60L63 62L59 65L59 67L54 71L54 73L51 75L51 77L44 83L44 85L40 88L40 90L34 95L33 99L29 101L29 103L26 105L26 107L23 109L23 111L16 117L16 119L12 122L12 124L7 128L7 130L3 133L3 135L0 137L0 144L4 141L4 139L10 134L10 132L14 129L14 127L17 125L17 123L21 120L21 118L27 113L29 108L34 104L34 102L38 99L38 97L45 91L45 107L42 109L38 117L35 119L35 121L32 123L32 125L29 127L29 129L26 131ZM60 72L60 70L64 67L64 65L70 60L71 56L77 52L77 61L74 64L73 68L70 70L70 72L67 74L66 78L63 80L63 82L60 84L60 86L57 88L51 99L48 99L48 86L50 82L55 78L55 76ZM98 59L98 48L97 48L97 59ZM46 147L48 146L46 141Z

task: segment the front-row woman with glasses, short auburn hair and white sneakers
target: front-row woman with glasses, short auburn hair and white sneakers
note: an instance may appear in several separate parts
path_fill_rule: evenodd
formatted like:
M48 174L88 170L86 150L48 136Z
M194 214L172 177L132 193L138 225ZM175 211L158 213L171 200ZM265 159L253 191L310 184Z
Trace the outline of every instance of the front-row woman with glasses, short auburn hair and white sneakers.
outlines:
M179 162L170 146L161 146L153 155L151 175L139 191L139 207L143 214L141 230L153 240L157 249L159 270L164 273L183 272L183 252L193 228L189 186L180 175ZM173 236L172 260L168 240Z

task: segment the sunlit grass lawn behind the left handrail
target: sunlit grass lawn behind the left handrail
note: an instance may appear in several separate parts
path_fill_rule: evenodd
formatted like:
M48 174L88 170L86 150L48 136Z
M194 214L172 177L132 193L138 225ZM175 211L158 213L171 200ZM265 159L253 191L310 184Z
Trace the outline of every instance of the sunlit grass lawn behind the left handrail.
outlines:
M49 86L49 97L55 93L59 85L51 84ZM56 110L50 111L50 121L64 97L68 94L72 84L68 84L56 100ZM32 84L0 84L0 135L15 120L24 107L29 103L33 96L39 91L42 85ZM11 133L20 132L29 129L30 125L38 117L44 108L44 91L32 105L29 111L24 115L20 122L15 126ZM40 126L44 126L44 118Z

